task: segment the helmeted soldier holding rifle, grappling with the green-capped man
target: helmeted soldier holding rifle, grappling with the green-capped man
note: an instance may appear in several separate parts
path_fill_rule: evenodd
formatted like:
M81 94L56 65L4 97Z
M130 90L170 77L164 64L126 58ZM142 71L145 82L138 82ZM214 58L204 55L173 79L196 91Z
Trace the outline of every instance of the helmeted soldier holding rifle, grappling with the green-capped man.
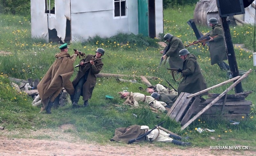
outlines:
M92 61L99 59L104 55L105 50L98 48L95 51L96 55L87 55L84 59L80 61L79 71L76 75L76 78L72 81L73 86L75 87L74 96L70 96L72 100L72 107L80 107L77 103L80 98L80 95L83 96L84 107L88 106L88 100L92 97L92 91L96 84L96 74L100 73L103 63L101 60ZM84 62L88 62L84 64Z

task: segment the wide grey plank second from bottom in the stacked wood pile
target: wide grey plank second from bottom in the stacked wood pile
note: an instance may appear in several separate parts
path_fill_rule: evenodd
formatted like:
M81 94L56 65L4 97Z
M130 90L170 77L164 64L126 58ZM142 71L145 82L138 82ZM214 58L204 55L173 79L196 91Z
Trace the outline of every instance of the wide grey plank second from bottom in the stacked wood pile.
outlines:
M199 113L198 110L202 110L204 106L197 106L193 114ZM221 114L222 106L212 106L202 114ZM251 112L251 106L227 106L223 108L223 114L249 114Z

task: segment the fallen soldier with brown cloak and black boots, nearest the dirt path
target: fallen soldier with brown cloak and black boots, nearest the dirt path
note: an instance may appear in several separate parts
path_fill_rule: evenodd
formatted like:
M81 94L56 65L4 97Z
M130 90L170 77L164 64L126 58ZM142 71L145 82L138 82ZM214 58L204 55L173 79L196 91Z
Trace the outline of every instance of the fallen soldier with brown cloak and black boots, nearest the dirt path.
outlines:
M147 131L150 131L148 126L140 126L140 125L132 125L129 127L116 128L115 136L112 137L110 141L129 143L129 140L138 138L139 136L147 133ZM172 137L174 136L175 135L166 133L165 131L157 128L152 130L145 137L141 138L140 140L137 140L136 143L138 143L139 141L150 141L150 142L159 141L159 142L171 142L175 145L181 145L181 146L191 145L191 143L189 142L182 142L182 141L172 139ZM182 139L182 138L176 137L176 139Z

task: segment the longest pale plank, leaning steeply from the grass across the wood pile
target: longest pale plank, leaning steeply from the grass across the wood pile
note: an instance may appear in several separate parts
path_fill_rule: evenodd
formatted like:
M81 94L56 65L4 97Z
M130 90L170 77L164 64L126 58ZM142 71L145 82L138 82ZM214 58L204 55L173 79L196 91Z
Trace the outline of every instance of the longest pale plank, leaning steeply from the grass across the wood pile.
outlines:
M238 83L240 83L244 78L246 78L249 73L252 72L252 69L247 71L243 76L241 76L236 82L234 82L232 85L230 85L224 92L222 92L216 99L214 99L211 103L209 103L205 108L203 108L198 114L196 114L192 119L190 119L187 123L185 123L182 127L181 130L184 130L188 125L190 125L193 121L196 120L201 114L203 114L208 108L210 108L216 101L218 101L224 94L234 88Z

